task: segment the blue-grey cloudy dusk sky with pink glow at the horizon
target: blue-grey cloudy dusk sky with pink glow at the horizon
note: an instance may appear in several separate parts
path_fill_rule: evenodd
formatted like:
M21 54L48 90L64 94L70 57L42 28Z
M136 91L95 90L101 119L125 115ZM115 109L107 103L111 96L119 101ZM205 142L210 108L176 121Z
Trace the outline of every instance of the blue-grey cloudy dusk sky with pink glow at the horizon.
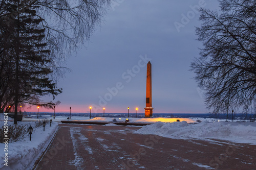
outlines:
M154 113L207 113L190 64L199 57L198 7L211 0L116 0L91 39L67 59L72 69L57 85L55 112L144 113L146 63L152 63ZM26 109L37 112L36 106ZM39 108L39 112L52 112Z

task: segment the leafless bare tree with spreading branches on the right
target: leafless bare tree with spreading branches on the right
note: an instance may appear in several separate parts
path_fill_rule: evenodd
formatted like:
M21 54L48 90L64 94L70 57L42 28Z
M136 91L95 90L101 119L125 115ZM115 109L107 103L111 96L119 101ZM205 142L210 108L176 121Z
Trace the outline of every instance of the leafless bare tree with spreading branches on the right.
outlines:
M191 63L196 81L205 90L213 113L256 109L256 2L220 0L220 11L201 9L203 42L200 57Z

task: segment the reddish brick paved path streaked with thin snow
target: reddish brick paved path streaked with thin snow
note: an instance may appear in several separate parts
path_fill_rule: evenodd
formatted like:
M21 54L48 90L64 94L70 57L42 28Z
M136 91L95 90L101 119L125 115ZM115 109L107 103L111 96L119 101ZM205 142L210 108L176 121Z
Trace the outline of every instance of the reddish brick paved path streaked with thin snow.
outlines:
M133 134L140 127L60 124L36 169L256 169L256 146Z

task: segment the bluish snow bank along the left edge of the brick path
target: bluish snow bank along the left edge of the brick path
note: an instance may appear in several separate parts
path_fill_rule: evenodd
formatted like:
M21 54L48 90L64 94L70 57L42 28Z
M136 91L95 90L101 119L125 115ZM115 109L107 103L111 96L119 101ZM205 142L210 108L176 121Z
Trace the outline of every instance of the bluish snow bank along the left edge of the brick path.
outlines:
M8 122L8 124L13 123ZM33 125L34 122L18 122L18 124ZM50 124L46 125L45 132L43 127L33 129L31 141L29 140L29 136L27 136L23 141L8 143L8 166L5 166L3 163L5 144L0 143L0 157L2 158L0 169L32 169L34 162L46 150L57 129L58 123L52 122L51 127Z

